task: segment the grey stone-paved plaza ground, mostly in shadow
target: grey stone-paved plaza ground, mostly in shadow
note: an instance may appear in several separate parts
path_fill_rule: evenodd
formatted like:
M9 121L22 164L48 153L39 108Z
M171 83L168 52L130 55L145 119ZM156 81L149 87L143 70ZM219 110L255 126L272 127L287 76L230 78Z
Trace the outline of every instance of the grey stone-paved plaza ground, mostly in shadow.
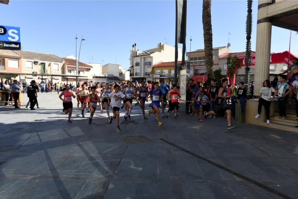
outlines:
M201 123L183 113L158 127L134 106L126 122L120 109L118 133L98 110L91 125L77 108L67 123L57 93L38 102L34 111L0 106L1 199L298 198L297 132L235 122L228 130L223 117Z

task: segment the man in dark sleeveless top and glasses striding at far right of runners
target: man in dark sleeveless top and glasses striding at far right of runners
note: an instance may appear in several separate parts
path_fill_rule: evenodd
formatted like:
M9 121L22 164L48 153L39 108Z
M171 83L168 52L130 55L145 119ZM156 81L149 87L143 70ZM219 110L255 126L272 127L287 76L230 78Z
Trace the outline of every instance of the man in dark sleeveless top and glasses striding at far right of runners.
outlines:
M214 111L209 111L208 113L205 112L204 118L207 118L208 115L216 115L221 110L223 110L227 114L226 119L228 122L228 129L232 129L232 128L235 128L235 126L231 124L231 109L227 103L227 98L231 97L230 95L227 95L227 92L228 92L227 86L229 84L228 79L225 78L221 80L221 84L222 84L222 87L219 88L218 90L218 97L216 98L216 101L215 101Z

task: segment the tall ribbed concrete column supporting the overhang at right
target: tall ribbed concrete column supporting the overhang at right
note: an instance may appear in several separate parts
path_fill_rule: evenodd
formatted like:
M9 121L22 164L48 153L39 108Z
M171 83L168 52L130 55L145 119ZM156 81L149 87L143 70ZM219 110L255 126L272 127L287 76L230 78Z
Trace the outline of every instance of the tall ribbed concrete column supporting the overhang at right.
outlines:
M271 0L258 1L256 62L254 74L254 96L260 95L264 80L269 79L271 20L267 18L267 6Z

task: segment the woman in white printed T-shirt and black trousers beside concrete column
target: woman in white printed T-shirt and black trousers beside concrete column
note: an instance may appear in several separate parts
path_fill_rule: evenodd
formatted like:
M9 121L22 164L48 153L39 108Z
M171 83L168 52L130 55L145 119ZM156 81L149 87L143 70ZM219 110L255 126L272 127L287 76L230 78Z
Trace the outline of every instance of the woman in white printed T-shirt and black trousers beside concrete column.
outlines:
M271 94L274 92L273 97L271 97ZM261 116L262 106L265 106L266 111L266 122L267 124L270 124L269 117L270 117L270 105L271 100L276 96L277 92L273 87L271 87L270 81L265 80L263 83L263 87L260 90L260 99L259 99L259 105L258 105L258 114L255 116L255 118L259 118Z

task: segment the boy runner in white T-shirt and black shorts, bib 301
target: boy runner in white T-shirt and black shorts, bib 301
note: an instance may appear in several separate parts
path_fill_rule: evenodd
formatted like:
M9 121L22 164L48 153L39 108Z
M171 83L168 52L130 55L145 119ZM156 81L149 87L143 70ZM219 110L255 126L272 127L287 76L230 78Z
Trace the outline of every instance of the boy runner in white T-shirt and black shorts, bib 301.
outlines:
M114 115L110 116L109 123L111 124L113 119L117 120L117 131L120 132L121 129L119 127L119 110L121 107L121 100L125 100L125 95L122 92L119 92L119 85L114 86L115 91L108 94L108 101L111 99L111 106L114 111Z

